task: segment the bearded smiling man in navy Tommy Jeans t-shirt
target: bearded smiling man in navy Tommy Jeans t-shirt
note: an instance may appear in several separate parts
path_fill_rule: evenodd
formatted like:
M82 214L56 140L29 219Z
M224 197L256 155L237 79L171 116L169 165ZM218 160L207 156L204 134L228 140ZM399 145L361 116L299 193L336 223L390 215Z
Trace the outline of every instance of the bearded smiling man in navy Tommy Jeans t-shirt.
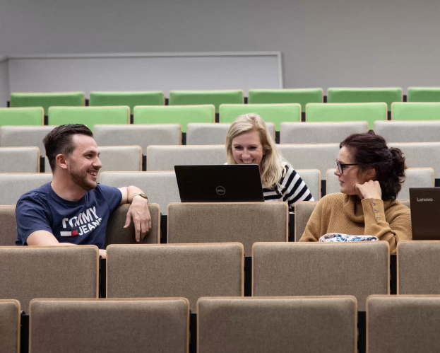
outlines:
M148 198L135 186L97 184L102 167L93 133L85 125L61 125L44 137L54 177L20 197L16 207L17 245L97 245L105 257L105 232L110 214L130 203L140 241L151 228Z

